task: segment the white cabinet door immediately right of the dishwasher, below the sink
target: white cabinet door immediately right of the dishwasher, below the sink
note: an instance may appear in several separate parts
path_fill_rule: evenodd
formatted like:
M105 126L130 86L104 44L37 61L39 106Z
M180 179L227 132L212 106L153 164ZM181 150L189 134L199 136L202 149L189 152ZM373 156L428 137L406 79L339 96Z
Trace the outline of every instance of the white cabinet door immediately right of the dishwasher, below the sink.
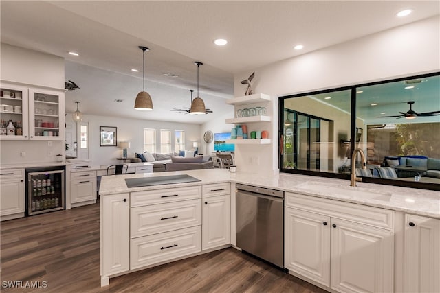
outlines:
M330 218L285 209L285 268L330 285Z

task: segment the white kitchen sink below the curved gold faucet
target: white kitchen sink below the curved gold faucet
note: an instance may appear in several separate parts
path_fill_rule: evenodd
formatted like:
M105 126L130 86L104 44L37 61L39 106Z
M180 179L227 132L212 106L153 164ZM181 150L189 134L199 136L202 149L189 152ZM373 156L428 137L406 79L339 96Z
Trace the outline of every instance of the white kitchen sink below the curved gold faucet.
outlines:
M368 198L371 200L384 200L389 201L392 194L383 191L371 190L362 187L344 186L344 185L331 185L331 183L322 183L308 181L297 186L305 191L313 192L322 195L334 195L349 198Z

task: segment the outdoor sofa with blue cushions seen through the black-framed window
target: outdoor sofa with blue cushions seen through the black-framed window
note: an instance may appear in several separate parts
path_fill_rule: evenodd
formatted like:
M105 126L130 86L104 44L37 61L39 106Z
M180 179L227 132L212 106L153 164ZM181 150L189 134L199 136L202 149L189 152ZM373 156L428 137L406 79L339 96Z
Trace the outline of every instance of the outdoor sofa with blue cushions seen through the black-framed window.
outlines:
M440 159L428 158L427 156L386 156L382 167L392 167L396 169L399 177L412 177L408 167L413 167L422 176L440 178Z

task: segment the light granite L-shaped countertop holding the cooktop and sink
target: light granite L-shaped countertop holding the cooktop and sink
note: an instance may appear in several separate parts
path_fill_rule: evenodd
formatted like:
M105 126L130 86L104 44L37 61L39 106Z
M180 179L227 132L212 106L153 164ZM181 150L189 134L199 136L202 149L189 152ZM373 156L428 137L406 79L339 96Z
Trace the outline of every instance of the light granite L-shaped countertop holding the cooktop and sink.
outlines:
M154 185L146 187L126 186L126 178L142 178L151 176L170 176L188 174L201 181L192 183L177 183L172 185ZM100 185L100 195L120 194L133 191L185 187L210 183L242 183L258 187L278 189L286 192L329 198L371 207L381 207L394 211L408 212L415 215L426 215L440 219L440 192L426 189L379 185L373 183L358 183L351 187L349 180L306 176L298 174L275 174L261 176L256 174L231 173L228 169L202 169L176 172L158 172L145 174L126 174L118 176L103 176Z

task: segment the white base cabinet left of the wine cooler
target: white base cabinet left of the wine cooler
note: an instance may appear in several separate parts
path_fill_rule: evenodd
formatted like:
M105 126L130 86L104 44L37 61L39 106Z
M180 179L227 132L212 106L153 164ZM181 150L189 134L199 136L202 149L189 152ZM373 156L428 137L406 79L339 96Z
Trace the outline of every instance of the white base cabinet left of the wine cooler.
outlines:
M1 220L21 218L25 215L25 170L0 171Z

